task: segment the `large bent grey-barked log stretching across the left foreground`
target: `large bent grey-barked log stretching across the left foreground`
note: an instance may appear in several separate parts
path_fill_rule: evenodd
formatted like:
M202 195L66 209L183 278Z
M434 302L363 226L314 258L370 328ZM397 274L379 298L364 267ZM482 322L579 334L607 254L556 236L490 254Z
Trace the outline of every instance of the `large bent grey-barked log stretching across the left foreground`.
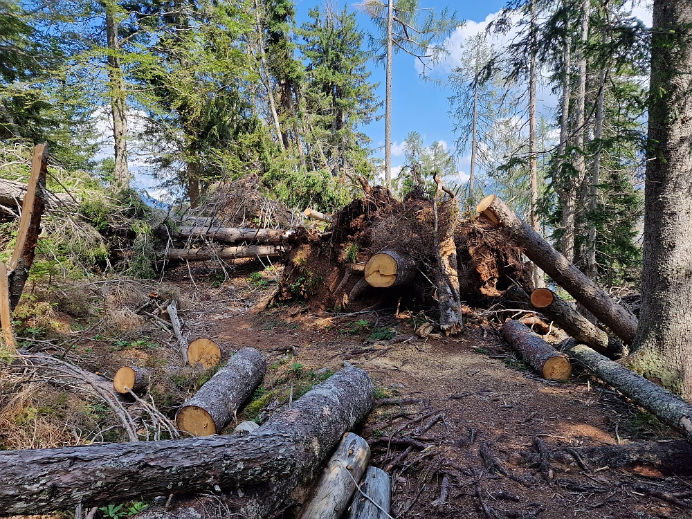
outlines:
M233 492L246 504L243 517L266 517L311 477L373 401L370 377L348 367L247 436L0 451L0 516L244 485L245 498Z

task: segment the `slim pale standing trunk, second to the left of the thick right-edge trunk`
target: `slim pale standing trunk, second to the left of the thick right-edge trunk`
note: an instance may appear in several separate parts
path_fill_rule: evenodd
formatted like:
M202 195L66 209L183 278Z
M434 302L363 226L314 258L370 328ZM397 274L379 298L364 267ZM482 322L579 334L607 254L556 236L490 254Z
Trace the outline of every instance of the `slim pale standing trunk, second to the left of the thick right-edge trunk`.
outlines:
M566 182L566 196L563 203L563 237L562 253L570 262L574 261L574 241L576 234L576 201L578 191L586 176L586 158L584 156L584 120L586 106L586 42L589 37L589 9L590 0L583 0L581 12L581 39L577 50L577 87L576 97L574 98L574 147L576 156L574 158L574 170L576 174L571 175Z

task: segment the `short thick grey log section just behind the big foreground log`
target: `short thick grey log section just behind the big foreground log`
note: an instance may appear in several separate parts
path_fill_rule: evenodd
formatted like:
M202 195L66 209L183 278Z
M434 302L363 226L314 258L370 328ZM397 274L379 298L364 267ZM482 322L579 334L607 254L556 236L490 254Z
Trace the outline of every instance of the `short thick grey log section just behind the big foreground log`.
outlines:
M261 352L255 348L240 349L194 397L183 403L176 425L194 436L219 434L235 419L235 413L255 392L265 372L266 361Z

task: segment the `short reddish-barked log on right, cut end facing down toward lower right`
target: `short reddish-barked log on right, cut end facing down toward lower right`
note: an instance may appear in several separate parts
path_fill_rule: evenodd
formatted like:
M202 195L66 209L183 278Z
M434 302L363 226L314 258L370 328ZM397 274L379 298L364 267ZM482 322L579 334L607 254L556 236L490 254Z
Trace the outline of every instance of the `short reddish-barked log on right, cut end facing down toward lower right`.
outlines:
M522 322L513 319L506 320L502 325L502 336L545 379L567 380L570 378L572 365L567 356L534 334Z

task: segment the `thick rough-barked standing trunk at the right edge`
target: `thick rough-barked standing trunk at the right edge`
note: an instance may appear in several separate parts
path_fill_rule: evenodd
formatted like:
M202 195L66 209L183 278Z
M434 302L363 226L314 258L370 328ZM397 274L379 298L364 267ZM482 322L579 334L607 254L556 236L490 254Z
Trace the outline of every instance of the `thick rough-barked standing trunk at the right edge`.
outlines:
M637 373L692 399L692 3L655 0Z

